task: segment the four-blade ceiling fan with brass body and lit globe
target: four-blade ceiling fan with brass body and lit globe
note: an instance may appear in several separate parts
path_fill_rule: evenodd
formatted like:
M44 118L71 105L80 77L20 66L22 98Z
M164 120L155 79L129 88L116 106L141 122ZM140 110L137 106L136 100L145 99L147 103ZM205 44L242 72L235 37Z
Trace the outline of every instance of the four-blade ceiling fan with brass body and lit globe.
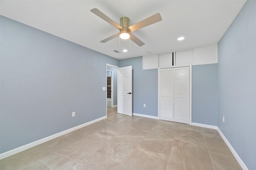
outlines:
M134 25L130 26L130 19L128 17L122 17L120 18L120 25L118 25L118 23L116 23L115 21L113 21L111 18L109 18L108 16L106 16L105 14L103 14L100 10L98 10L97 8L93 8L92 10L90 10L92 13L94 13L96 16L102 18L103 20L107 21L108 23L110 23L111 25L113 25L114 27L116 27L117 29L119 29L119 33L112 35L102 41L100 41L101 43L106 43L107 41L110 41L111 39L114 39L118 36L120 36L121 39L128 39L130 38L134 43L136 43L138 46L142 46L145 43L143 43L140 39L138 39L135 35L133 35L131 32L136 31L138 29L141 29L143 27L146 27L148 25L151 25L153 23L162 21L162 17L159 13L154 14L153 16L150 16L138 23L135 23Z

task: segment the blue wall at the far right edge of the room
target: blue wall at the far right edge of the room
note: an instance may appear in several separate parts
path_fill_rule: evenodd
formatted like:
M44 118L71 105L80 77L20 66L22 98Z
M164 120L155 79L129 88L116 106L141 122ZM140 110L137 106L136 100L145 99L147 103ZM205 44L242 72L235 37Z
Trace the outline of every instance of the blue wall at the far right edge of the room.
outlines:
M256 167L255 9L248 0L218 43L218 127L250 170Z

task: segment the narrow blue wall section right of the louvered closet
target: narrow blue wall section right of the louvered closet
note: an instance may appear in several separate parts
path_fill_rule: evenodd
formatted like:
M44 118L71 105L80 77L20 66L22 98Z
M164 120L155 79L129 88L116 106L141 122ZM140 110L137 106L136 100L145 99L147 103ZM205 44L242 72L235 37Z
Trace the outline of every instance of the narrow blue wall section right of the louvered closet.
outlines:
M218 125L217 64L192 66L192 122Z

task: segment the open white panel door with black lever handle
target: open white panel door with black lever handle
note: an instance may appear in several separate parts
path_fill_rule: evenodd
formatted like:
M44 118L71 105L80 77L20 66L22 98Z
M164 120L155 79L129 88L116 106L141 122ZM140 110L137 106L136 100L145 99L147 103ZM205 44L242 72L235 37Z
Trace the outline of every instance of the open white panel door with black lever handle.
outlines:
M132 116L132 66L118 68L118 113Z

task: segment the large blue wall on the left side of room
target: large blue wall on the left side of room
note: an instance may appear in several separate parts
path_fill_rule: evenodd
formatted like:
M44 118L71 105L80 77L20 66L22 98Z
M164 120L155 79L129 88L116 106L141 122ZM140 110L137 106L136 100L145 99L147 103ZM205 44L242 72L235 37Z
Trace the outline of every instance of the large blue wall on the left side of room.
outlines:
M106 116L106 63L117 59L3 16L0 25L1 153Z

